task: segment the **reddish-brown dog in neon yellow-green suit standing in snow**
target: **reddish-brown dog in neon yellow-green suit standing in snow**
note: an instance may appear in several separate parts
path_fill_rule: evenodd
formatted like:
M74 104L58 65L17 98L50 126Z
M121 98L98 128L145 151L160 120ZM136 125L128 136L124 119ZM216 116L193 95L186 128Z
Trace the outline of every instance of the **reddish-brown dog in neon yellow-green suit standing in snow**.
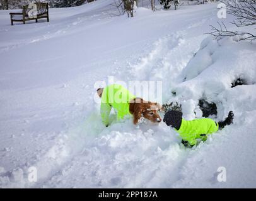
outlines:
M141 117L154 123L161 122L161 117L158 114L161 104L135 97L122 85L108 85L105 88L97 89L96 92L102 99L100 112L105 126L110 124L108 117L112 107L117 111L117 120L124 119L127 115L132 115L134 124L137 124Z

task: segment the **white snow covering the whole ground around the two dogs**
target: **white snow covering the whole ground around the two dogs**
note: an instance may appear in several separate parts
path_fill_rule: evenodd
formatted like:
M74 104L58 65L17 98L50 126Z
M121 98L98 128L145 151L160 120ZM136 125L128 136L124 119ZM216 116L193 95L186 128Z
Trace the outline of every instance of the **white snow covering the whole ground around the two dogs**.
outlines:
M137 8L134 18L111 3L15 26L0 11L0 187L256 187L255 42L204 35L219 20L216 3ZM232 110L234 124L192 149L164 122L105 128L95 83L108 76L162 81L163 103L180 102L186 119L202 117L203 98L216 103L214 120ZM238 77L246 85L231 88Z

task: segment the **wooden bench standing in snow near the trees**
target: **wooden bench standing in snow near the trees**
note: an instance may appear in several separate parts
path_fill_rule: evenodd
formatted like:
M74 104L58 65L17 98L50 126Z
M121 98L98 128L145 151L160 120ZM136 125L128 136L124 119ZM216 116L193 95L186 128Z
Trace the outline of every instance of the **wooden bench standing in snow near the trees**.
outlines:
M33 3L23 6L22 13L9 13L11 16L11 25L14 21L26 23L26 21L47 18L49 22L49 5L48 3Z

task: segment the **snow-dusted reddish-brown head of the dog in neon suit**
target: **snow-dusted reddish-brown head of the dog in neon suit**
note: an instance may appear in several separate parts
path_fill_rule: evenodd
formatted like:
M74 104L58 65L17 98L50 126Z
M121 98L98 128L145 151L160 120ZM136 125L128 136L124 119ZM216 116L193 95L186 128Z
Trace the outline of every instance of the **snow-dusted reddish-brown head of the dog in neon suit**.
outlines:
M158 111L161 105L156 102L148 102L143 99L134 99L130 102L130 112L134 116L134 124L137 124L141 117L148 119L151 122L161 122L161 117Z

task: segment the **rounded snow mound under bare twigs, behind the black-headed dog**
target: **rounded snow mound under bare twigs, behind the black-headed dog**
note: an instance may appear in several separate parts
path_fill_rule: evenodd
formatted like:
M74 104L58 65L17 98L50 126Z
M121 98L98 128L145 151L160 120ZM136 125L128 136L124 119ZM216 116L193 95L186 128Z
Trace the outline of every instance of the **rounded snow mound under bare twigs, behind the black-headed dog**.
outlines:
M218 112L221 112L223 111L221 106L227 98L222 94L230 90L235 80L245 80L246 85L243 87L249 91L254 87L255 56L255 44L250 44L248 41L237 41L236 37L222 40L206 38L202 41L199 51L182 70L181 76L184 82L173 90L180 100L192 99L197 102L199 99L204 99L215 102L219 106ZM238 86L233 89L236 90L239 90ZM250 92L252 95L255 94L253 91ZM244 97L243 93L237 95ZM233 104L224 111L224 114L229 109L235 110Z

